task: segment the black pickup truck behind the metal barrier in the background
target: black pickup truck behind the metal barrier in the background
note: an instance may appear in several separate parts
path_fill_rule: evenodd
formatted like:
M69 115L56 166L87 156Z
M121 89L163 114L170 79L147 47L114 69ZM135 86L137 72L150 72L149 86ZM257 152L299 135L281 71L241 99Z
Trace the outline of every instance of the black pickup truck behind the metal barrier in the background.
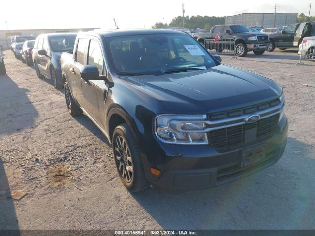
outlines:
M269 44L267 34L260 33L260 32L258 33L251 32L250 29L242 25L213 26L210 30L210 38L213 39L217 35L220 37L220 39L234 39L235 54L236 56L239 56L239 57L246 56L249 51L253 51L254 54L261 55L265 52ZM219 49L220 51L223 51L224 49L233 50L233 47L234 47L233 41L230 41L228 43L224 43L224 42L222 43L224 47L218 47L218 48L215 47L215 49L216 50Z

